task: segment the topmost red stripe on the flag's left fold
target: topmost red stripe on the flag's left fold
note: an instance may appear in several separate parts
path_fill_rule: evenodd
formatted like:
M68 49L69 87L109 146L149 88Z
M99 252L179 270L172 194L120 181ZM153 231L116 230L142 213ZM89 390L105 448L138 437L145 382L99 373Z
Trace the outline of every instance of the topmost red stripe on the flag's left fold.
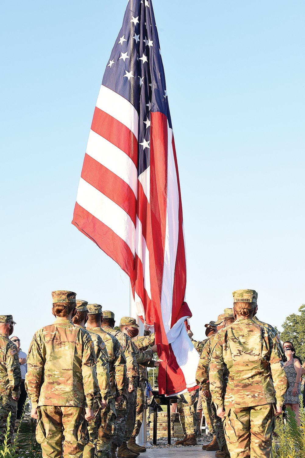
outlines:
M126 125L95 107L91 130L126 153L137 167L138 140Z

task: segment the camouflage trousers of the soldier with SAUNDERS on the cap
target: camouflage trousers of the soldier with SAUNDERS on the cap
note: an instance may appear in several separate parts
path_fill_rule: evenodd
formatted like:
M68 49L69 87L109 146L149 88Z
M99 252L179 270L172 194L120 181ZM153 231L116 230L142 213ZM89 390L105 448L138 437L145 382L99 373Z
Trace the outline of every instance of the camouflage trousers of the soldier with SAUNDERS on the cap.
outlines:
M230 409L225 437L231 458L268 458L275 426L273 404Z

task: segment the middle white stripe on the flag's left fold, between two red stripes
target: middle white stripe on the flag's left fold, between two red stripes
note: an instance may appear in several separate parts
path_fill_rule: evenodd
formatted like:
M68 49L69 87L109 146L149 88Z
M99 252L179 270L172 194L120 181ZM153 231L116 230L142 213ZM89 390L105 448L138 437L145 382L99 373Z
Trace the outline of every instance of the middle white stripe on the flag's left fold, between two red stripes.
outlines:
M137 196L137 168L126 153L94 131L90 131L86 153L124 180Z

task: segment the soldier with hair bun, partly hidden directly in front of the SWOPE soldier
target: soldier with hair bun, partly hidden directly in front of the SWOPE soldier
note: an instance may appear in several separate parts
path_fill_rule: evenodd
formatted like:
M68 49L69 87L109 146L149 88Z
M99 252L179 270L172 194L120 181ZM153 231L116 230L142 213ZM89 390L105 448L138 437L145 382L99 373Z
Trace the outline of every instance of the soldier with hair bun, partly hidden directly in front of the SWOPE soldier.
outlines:
M87 305L88 302L86 300L76 300L76 315L72 318L72 322L75 326L80 326L83 329L85 329L85 323L88 319ZM109 358L106 345L102 338L88 329L86 332L93 342L96 354L96 377L100 388L100 396L96 397L93 403L94 418L88 425L89 442L85 445L83 458L95 458L96 456L98 458L110 458L109 453L98 452L96 448L98 431L102 423L104 424L103 409L107 406L107 397L110 390Z

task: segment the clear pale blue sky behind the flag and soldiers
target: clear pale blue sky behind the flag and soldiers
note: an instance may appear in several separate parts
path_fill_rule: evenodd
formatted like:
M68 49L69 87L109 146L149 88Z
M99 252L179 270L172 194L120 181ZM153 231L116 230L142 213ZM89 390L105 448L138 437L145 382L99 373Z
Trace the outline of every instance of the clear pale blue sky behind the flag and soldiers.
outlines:
M1 3L1 308L27 350L51 291L118 319L128 279L71 224L97 94L127 1ZM177 148L194 337L258 291L305 303L305 3L153 0Z

